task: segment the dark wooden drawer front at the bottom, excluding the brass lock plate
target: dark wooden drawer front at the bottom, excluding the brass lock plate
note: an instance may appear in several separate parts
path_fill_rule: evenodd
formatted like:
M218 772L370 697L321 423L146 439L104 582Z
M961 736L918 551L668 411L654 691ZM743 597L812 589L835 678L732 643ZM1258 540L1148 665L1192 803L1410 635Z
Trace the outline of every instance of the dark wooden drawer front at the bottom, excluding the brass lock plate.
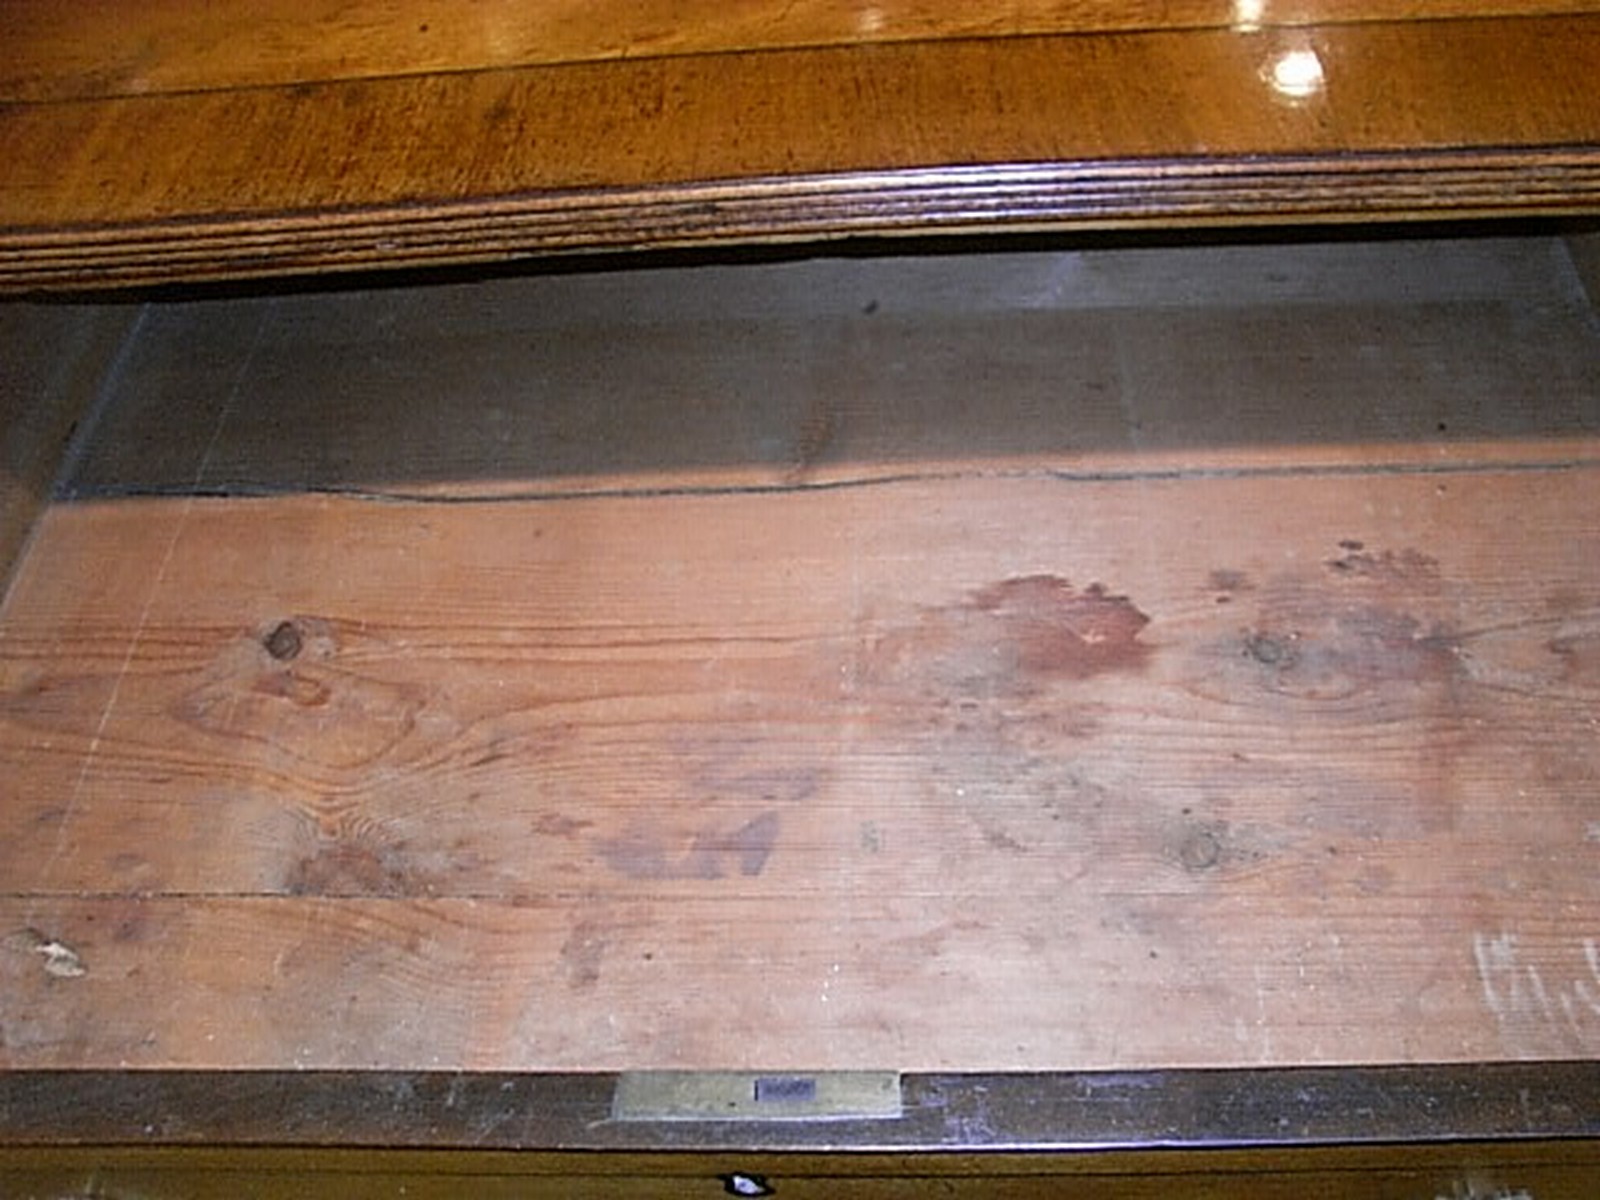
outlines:
M1600 1187L1592 1062L907 1075L902 1117L838 1122L618 1122L616 1078L8 1072L0 1182L90 1171L96 1187L158 1176L187 1195L243 1173L282 1194L336 1195L354 1173L710 1195L742 1176L774 1194L818 1179L851 1194L912 1179L986 1194L1070 1176L1090 1195L1205 1186L1426 1200Z

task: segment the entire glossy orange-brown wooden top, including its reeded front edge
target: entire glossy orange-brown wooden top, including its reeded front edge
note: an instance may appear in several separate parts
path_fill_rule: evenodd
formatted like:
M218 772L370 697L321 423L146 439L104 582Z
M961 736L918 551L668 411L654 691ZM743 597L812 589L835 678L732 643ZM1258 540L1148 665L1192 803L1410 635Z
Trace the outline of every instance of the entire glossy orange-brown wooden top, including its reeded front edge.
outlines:
M0 288L1600 195L1587 3L614 8L10 6Z

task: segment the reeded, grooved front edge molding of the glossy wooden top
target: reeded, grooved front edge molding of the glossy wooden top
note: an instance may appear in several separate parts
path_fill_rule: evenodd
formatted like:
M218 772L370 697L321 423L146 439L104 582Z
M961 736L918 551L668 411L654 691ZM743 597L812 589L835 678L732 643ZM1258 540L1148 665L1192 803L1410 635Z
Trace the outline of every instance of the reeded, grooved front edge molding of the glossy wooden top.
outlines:
M0 240L0 288L117 286L915 234L1566 216L1600 147L933 168L200 218Z

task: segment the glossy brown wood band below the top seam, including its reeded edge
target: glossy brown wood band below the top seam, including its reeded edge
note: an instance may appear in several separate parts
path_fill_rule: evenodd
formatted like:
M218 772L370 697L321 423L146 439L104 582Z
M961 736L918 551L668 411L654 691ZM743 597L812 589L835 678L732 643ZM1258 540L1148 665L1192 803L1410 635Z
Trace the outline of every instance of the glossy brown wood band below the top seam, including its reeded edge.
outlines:
M1312 50L1323 93L1264 72ZM0 106L0 290L1600 211L1600 18L990 38Z

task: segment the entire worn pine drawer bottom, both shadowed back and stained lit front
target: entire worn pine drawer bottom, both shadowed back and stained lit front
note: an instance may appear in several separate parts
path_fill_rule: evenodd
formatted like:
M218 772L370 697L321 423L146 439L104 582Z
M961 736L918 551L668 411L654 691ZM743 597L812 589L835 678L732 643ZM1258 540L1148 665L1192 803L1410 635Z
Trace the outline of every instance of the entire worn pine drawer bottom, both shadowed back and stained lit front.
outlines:
M744 317L694 272L421 298L462 354L400 293L152 318L0 624L3 1061L1592 1056L1570 259L1166 253L1166 342L1139 254L1058 258L1054 291L770 267ZM1283 334L1312 318L1320 350ZM538 370L485 350L517 342ZM474 467L397 400L381 470L339 422L413 386L509 435ZM202 437L170 442L184 403ZM918 411L1074 435L963 454ZM651 466L662 413L699 456Z

